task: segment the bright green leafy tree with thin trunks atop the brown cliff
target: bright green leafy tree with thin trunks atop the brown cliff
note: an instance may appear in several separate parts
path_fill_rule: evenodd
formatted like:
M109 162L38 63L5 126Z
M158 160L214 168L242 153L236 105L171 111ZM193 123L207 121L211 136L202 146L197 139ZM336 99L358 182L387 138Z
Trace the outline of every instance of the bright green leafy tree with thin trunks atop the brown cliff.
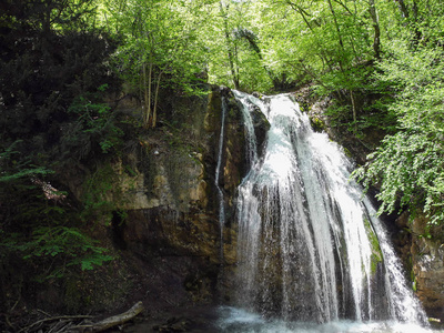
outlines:
M120 73L143 100L143 127L154 128L161 87L190 93L200 81L199 74L205 71L205 51L199 43L198 28L208 19L206 4L117 0L109 2L108 16L124 38L117 52Z

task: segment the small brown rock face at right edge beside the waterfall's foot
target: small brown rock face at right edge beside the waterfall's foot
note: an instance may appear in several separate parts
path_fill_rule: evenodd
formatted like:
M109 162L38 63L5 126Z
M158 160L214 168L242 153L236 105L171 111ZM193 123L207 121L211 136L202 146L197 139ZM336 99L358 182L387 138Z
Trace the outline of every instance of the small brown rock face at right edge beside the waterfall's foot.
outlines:
M438 230L430 230L425 216L412 222L412 264L416 294L430 316L444 320L444 246Z

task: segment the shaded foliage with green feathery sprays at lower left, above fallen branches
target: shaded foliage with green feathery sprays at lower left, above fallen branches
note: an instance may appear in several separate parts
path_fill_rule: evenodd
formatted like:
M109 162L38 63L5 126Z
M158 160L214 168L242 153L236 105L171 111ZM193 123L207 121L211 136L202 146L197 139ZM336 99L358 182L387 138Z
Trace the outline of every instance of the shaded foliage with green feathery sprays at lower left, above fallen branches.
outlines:
M43 282L64 278L72 270L91 270L111 260L103 248L98 246L75 224L75 212L47 195L44 183L22 179L7 182L8 192L0 191L0 202L6 208L0 224L0 262L7 274L13 266L21 266L24 280ZM26 191L24 191L26 190Z

